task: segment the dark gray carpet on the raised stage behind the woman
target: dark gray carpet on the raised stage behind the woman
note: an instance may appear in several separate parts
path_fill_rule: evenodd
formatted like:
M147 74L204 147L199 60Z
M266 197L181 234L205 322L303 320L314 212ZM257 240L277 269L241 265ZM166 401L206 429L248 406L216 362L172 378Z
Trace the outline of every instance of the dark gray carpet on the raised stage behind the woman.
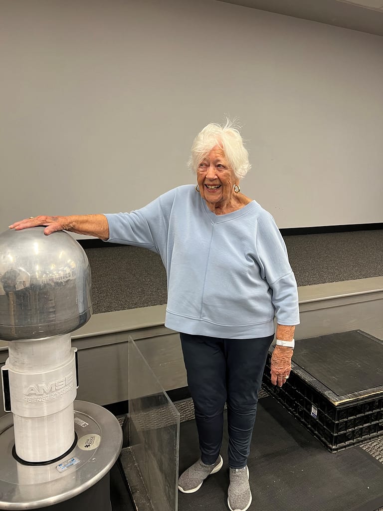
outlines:
M383 275L383 229L284 237L298 286ZM92 272L93 312L166 303L166 273L145 248L85 250Z

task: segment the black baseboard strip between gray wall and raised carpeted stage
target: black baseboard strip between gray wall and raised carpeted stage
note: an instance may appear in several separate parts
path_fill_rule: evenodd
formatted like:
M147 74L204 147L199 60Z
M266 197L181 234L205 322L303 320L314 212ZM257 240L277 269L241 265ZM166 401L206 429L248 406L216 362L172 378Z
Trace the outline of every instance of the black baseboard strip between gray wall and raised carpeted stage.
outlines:
M383 222L369 224L349 224L349 225L323 225L320 227L291 227L279 229L282 236L299 236L305 234L328 234L328 233L350 233L355 230L378 230L383 229ZM83 248L101 248L101 247L123 247L122 243L108 243L96 238L88 240L77 240Z

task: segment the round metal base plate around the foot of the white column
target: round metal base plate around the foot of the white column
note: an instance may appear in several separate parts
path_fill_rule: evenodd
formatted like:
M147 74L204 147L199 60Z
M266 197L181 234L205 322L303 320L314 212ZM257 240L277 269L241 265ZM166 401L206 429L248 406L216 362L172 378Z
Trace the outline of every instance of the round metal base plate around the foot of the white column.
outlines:
M0 419L0 509L36 509L69 500L110 471L122 448L121 426L99 405L75 401L74 406L77 443L47 464L17 461L12 414Z

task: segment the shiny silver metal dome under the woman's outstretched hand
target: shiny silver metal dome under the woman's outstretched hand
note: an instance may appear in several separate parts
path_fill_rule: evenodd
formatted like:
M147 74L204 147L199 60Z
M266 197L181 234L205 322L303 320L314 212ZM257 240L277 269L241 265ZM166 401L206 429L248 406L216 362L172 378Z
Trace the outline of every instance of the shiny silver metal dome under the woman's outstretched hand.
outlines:
M44 227L0 234L0 339L41 339L80 328L91 315L90 267L69 234Z

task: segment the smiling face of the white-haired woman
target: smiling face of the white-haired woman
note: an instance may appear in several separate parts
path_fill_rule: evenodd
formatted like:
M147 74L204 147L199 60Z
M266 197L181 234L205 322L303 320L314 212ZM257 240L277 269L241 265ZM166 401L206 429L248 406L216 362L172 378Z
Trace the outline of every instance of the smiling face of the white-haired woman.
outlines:
M197 169L200 194L213 211L216 207L229 206L237 182L233 169L219 146L214 146Z

